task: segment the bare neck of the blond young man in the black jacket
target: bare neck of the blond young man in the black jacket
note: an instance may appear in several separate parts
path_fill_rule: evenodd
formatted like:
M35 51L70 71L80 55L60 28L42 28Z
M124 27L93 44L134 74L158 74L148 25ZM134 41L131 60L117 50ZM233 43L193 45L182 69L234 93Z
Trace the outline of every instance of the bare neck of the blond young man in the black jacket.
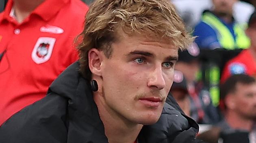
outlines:
M100 119L104 124L105 134L109 143L134 143L142 124L129 122L120 114L108 107L101 93L94 93L93 99L98 107Z

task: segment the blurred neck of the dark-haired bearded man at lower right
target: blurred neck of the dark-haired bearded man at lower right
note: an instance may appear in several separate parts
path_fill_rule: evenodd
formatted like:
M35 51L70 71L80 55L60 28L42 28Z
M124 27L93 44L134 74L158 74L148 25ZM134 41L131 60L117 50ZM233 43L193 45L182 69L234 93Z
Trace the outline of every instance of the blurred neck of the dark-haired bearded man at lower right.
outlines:
M252 130L253 121L248 118L243 118L233 111L227 111L225 119L231 128L247 131Z

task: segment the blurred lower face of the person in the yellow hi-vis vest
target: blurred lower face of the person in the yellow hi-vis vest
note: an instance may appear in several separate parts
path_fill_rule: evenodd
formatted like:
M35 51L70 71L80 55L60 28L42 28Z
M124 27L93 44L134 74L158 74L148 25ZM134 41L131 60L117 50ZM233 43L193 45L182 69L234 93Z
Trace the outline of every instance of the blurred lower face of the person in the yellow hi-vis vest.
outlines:
M214 11L221 15L232 15L235 2L237 0L213 0Z

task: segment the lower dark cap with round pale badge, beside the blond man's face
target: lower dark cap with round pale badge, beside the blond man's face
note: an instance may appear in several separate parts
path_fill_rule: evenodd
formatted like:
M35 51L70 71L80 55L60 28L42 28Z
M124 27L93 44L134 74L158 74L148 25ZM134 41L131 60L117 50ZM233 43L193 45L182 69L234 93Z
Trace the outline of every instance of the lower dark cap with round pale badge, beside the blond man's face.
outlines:
M185 92L188 92L187 81L184 78L183 73L178 70L174 71L174 82L171 86L171 90L174 90L174 89L181 89L181 90L184 90Z

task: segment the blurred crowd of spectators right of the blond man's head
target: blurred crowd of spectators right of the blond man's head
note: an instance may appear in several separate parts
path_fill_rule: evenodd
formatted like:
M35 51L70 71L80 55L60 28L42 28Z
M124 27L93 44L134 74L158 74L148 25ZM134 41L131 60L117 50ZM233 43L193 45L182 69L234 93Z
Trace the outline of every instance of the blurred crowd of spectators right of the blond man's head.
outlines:
M201 123L198 138L255 143L255 1L173 2L195 43L180 51L170 95Z

